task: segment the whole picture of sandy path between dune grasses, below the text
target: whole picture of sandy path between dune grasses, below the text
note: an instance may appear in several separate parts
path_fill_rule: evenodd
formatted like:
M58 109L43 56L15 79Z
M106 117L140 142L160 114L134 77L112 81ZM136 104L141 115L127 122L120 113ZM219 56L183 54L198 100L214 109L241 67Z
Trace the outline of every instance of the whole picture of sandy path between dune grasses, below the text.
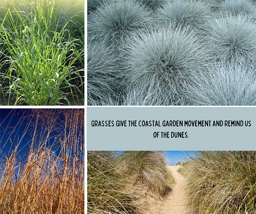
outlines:
M88 151L90 214L254 214L255 151Z

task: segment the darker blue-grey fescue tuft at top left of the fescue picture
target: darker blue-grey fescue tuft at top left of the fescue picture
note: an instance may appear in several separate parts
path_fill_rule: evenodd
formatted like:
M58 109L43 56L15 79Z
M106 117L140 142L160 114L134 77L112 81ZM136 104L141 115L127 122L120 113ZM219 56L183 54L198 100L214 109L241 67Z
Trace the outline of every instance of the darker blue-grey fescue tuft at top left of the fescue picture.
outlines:
M131 0L116 0L98 8L88 19L88 38L119 47L123 39L134 31L153 23L152 13L145 6Z

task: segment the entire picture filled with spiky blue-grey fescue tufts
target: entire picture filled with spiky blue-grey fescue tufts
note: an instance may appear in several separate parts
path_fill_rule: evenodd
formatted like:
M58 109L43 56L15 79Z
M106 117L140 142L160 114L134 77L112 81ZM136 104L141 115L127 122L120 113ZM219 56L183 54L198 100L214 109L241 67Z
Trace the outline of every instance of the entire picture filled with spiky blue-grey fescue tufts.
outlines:
M255 1L91 2L89 105L255 105Z

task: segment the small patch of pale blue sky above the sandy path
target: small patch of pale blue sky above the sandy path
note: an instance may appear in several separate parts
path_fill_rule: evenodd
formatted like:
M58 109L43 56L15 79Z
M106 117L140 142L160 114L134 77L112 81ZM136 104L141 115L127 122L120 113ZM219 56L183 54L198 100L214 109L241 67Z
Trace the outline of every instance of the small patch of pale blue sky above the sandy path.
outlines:
M186 157L193 155L192 151L165 151L168 164L173 166L174 164L186 161Z

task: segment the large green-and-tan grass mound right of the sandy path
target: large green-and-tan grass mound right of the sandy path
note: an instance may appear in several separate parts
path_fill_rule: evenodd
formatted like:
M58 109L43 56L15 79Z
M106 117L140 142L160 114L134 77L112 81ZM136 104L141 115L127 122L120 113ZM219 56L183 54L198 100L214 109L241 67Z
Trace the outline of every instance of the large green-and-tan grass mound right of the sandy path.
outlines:
M184 168L196 213L256 212L256 152L202 151Z

